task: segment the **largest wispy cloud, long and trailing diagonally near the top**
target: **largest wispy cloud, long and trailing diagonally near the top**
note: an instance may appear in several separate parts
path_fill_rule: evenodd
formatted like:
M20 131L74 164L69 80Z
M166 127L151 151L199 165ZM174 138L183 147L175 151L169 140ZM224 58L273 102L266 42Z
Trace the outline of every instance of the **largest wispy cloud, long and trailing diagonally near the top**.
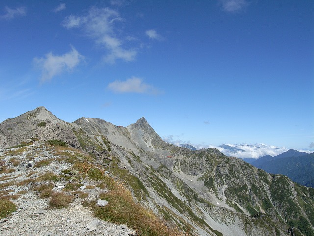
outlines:
M137 55L136 48L125 46L125 42L129 42L128 36L117 36L122 35L123 31L118 30L116 25L123 21L125 20L115 10L92 7L85 15L67 16L62 25L67 29L82 29L95 43L105 49L104 61L114 63L117 59L133 61ZM119 34L116 31L119 31Z

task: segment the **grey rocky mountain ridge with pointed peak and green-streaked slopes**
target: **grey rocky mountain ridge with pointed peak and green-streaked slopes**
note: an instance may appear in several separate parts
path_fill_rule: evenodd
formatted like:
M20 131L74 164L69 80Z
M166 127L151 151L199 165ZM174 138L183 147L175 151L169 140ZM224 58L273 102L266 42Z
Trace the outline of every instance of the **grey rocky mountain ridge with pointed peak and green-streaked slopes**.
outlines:
M97 118L67 123L39 107L0 124L2 149L51 139L88 152L138 202L191 235L288 235L291 227L296 235L314 235L313 188L215 148L168 144L145 118L127 127Z

